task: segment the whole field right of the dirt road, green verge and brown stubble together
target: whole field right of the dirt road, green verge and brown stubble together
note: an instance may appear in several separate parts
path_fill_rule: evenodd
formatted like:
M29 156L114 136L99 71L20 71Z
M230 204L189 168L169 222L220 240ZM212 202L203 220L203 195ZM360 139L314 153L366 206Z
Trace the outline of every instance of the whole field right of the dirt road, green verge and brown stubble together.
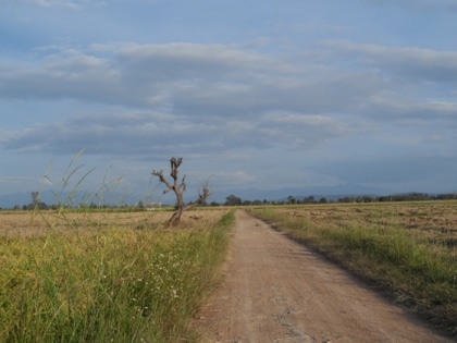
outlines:
M457 201L270 206L249 211L457 334Z

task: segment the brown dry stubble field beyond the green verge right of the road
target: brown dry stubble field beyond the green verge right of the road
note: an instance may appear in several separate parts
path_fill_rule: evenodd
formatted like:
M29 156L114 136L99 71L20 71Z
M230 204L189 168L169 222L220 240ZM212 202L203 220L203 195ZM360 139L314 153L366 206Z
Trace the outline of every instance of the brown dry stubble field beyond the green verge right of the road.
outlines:
M274 211L322 229L399 226L418 241L447 247L448 254L457 256L457 201L286 206Z

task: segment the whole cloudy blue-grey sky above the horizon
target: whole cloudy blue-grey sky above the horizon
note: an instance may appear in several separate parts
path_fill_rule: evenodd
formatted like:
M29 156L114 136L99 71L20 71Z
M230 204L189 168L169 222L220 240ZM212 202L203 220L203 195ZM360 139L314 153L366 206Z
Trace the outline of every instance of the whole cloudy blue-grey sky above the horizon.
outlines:
M0 0L0 195L156 194L172 156L190 193L456 192L456 32L457 0Z

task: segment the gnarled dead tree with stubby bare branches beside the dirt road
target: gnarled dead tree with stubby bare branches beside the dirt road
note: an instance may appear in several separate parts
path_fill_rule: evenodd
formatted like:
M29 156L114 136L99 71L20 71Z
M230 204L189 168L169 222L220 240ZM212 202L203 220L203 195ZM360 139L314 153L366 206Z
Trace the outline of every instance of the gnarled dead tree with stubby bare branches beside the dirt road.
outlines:
M183 163L183 158L174 158L172 157L170 160L170 167L171 167L171 173L170 176L173 179L173 183L170 183L166 181L166 179L163 176L162 171L156 171L152 170L152 175L158 176L160 182L163 183L166 186L166 189L163 191L163 194L166 194L170 191L173 191L176 195L176 211L173 213L172 218L169 220L169 226L176 226L180 223L181 215L183 212L187 211L188 209L196 207L200 204L205 204L207 198L210 195L208 182L203 183L201 185L201 192L198 196L198 199L195 201L184 205L183 200L183 194L186 191L186 175L183 176L181 183L178 183L177 174L181 163Z

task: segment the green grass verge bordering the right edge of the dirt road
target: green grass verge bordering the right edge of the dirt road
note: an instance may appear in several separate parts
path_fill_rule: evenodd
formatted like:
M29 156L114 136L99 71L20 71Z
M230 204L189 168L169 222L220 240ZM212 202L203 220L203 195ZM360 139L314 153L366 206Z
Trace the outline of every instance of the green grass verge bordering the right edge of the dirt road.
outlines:
M326 209L331 206L326 205ZM258 208L252 213L356 274L374 281L396 301L435 324L457 333L455 254L428 244L425 237L410 234L395 213L381 212L375 207L349 208L353 213L369 211L363 220L350 210L342 216L311 220L305 207L298 209Z

